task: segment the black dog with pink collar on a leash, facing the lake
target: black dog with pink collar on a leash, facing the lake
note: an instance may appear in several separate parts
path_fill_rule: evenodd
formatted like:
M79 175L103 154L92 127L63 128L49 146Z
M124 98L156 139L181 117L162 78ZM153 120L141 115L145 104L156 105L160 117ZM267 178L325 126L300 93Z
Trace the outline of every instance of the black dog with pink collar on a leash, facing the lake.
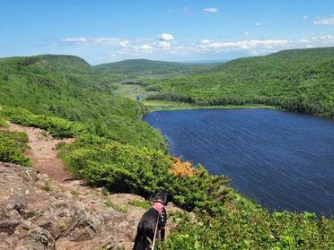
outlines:
M149 211L146 211L142 219L139 221L136 229L135 246L133 250L149 250L152 249L154 234L158 237L160 231L160 239L164 240L165 226L167 221L167 213L164 208L167 205L168 194L164 191L156 194L154 204Z

